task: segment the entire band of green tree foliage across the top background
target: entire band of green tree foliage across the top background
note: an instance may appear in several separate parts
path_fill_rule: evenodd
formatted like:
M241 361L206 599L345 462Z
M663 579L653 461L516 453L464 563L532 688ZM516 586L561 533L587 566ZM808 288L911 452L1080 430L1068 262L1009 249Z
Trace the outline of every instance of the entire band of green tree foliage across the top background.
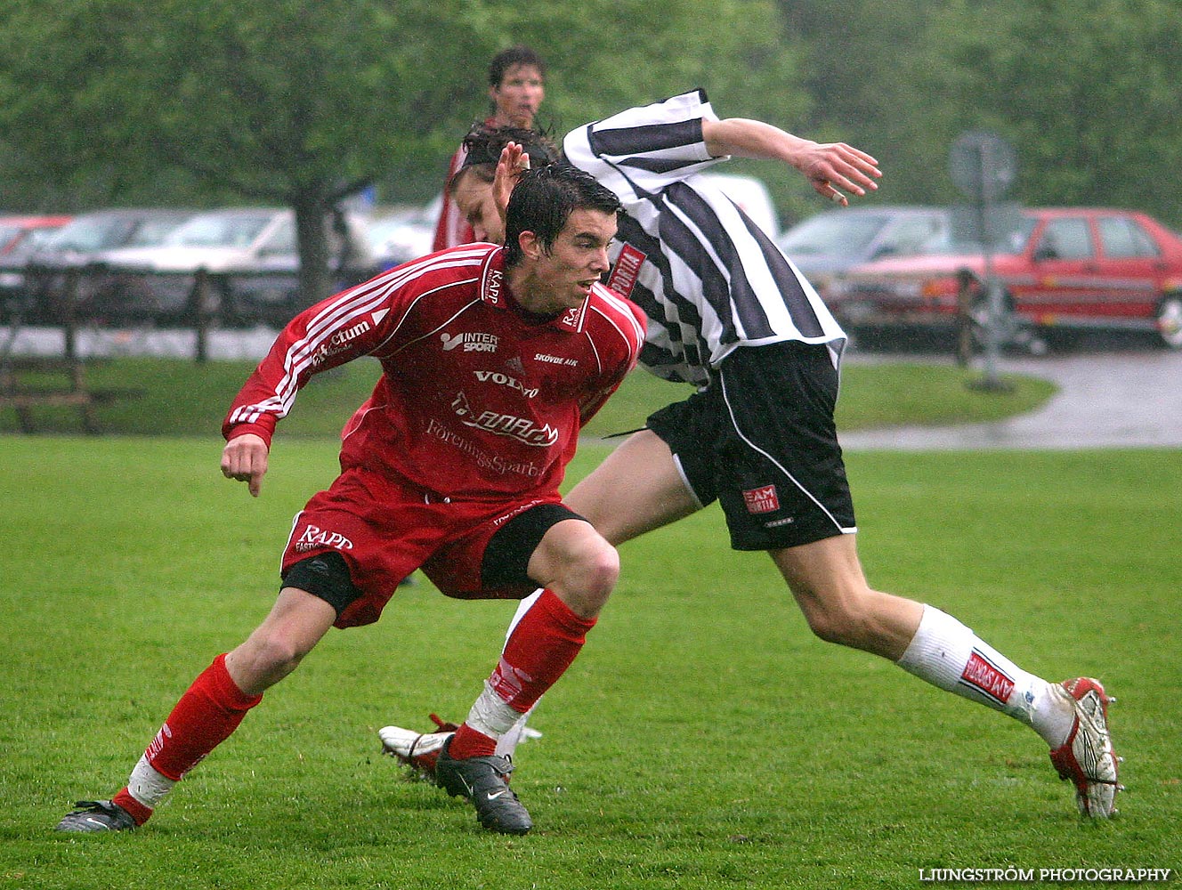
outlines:
M282 203L318 268L342 193L437 191L487 113L488 59L527 43L550 66L540 123L556 135L704 86L723 116L876 155L875 201L960 200L948 147L987 128L1017 149L1014 199L1178 225L1176 13L1176 0L0 0L0 206ZM791 170L743 163L790 220L821 209Z

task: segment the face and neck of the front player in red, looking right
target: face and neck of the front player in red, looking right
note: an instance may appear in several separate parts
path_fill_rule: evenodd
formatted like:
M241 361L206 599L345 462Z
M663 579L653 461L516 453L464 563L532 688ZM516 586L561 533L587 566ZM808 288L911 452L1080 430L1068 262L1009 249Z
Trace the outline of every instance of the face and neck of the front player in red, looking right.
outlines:
M615 236L616 214L573 210L551 251L533 258L530 293L519 294L522 305L546 314L582 306L611 265L608 245Z

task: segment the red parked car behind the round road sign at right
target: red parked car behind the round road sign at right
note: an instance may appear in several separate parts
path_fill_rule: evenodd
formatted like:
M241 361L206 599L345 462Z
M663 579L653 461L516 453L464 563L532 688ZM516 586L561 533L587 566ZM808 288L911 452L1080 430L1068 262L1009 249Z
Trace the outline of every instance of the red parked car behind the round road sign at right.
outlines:
M1154 331L1182 349L1182 239L1143 213L1110 208L1021 210L992 255L1002 301L1034 331ZM985 254L948 241L941 252L851 269L827 300L847 326L949 325L965 281L986 299Z

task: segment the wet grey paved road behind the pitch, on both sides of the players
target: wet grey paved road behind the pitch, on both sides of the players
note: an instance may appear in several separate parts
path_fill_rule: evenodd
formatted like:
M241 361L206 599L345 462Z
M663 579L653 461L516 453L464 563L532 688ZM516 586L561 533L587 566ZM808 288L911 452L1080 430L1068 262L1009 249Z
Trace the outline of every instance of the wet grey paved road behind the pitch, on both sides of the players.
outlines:
M0 345L7 346L7 339L8 331L0 327ZM209 355L256 359L272 339L274 331L267 329L217 331L210 337ZM195 343L191 331L84 331L78 346L91 356L191 356ZM60 355L63 338L58 330L26 329L12 345L18 353ZM847 360L949 359L929 349L894 353L855 350ZM996 423L847 433L842 435L842 444L850 450L1182 448L1182 352L1136 340L1093 339L1047 356L1004 356L998 371L1044 377L1054 381L1060 391L1041 409Z

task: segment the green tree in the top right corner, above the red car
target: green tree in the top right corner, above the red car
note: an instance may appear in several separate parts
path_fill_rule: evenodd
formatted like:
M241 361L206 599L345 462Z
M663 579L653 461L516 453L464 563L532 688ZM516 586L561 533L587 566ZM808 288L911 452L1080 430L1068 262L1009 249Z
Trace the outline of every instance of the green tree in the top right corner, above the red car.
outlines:
M1173 0L956 0L941 7L927 44L936 57L909 79L935 100L916 123L943 147L966 129L1006 137L1019 158L1017 200L1182 222L1182 17Z

